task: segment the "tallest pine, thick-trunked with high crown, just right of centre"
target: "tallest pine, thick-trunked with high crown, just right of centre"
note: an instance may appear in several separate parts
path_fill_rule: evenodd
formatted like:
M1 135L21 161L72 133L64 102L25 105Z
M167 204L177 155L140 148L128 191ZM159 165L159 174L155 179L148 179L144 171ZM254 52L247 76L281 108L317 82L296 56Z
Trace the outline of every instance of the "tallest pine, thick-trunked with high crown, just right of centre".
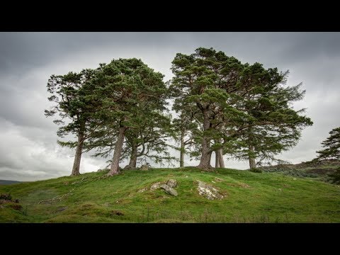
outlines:
M229 104L230 94L239 90L238 78L242 64L234 57L227 57L224 52L198 48L192 55L178 53L172 62L174 78L171 90L177 102L194 105L193 117L200 123L202 132L193 138L200 143L201 169L209 170L211 154L221 148L221 144L211 146L211 141L220 139L222 134L218 126L226 118L242 118L244 115ZM176 103L175 101L175 103Z

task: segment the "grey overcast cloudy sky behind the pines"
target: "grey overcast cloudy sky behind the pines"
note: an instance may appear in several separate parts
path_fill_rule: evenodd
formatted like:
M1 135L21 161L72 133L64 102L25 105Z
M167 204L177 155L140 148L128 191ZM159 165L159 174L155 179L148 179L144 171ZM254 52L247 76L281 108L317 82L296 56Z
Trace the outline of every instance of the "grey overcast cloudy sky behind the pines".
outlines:
M295 108L307 108L314 125L281 159L294 164L313 159L328 132L340 126L340 33L0 33L0 179L35 181L71 173L73 152L57 145L57 125L44 115L51 74L137 57L167 81L176 53L191 54L197 47L289 69L288 85L303 82L306 96ZM105 161L86 154L81 173L103 168ZM225 164L248 167L247 162Z

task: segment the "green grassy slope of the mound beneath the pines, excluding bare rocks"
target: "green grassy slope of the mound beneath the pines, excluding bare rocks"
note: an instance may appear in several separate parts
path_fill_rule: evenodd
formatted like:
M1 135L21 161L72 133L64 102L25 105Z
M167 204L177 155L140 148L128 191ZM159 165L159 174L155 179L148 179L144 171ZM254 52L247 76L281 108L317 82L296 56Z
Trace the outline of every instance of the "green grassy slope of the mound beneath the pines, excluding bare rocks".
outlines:
M339 186L313 179L194 167L101 178L105 174L0 186L0 193L19 200L0 205L0 222L340 222ZM176 197L163 190L138 192L169 179L178 182ZM225 198L200 196L198 180Z

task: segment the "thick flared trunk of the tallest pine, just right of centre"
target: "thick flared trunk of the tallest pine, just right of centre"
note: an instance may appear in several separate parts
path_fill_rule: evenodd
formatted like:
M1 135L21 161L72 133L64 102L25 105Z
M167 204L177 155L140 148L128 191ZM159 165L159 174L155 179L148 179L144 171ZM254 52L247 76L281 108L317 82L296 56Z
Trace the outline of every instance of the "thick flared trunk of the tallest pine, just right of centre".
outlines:
M204 110L203 111L203 131L208 130L210 128L210 121L208 117L208 111ZM210 165L210 159L211 159L211 154L212 151L210 149L210 137L207 135L203 135L202 139L202 154L200 157L200 164L197 166L200 169L204 170L211 170L212 166Z

